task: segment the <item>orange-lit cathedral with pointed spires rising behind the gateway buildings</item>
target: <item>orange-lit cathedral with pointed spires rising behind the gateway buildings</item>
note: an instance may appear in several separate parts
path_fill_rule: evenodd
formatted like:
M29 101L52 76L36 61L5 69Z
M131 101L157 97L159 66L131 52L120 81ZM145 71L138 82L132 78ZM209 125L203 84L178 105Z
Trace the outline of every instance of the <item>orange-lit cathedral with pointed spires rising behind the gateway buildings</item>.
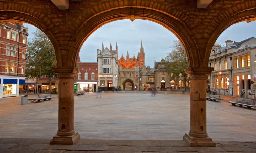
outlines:
M133 55L133 57L130 58L129 53L127 51L126 60L123 57L123 55L118 60L118 66L122 66L123 69L125 68L134 69L135 66L139 66L139 68L142 68L144 65L145 65L145 53L144 53L144 48L142 46L142 40L141 40L140 51L138 52L137 58L135 58L135 55Z

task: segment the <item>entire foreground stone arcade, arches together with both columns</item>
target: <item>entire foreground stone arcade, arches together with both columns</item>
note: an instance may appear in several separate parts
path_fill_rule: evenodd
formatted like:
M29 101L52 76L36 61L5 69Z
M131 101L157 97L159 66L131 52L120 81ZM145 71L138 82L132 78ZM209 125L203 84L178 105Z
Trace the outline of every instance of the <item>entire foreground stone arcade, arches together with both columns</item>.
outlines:
M203 2L203 3L202 3ZM0 22L35 25L52 41L59 74L58 131L51 144L73 144L80 136L74 130L74 74L83 42L102 25L121 19L144 19L163 25L183 44L191 76L191 146L215 146L207 134L206 75L209 55L218 36L230 25L256 19L256 0L207 1L1 1ZM200 85L200 86L199 86ZM185 133L185 132L184 132Z

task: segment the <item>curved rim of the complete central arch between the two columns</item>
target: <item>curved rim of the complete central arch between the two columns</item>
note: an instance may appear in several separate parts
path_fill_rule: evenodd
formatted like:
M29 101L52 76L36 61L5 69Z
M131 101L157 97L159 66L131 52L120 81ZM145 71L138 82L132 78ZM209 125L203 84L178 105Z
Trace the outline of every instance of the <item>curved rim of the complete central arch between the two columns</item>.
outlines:
M131 12L133 12L132 15ZM197 49L198 47L193 40L193 35L191 35L187 27L185 27L181 21L178 21L177 19L164 13L144 8L119 8L108 12L103 12L85 21L78 30L79 33L74 34L73 40L69 44L69 53L73 54L72 63L75 64L83 42L86 41L86 39L94 31L102 27L104 24L121 19L143 19L162 25L163 27L173 32L183 44L188 57L189 66L200 66L200 58Z

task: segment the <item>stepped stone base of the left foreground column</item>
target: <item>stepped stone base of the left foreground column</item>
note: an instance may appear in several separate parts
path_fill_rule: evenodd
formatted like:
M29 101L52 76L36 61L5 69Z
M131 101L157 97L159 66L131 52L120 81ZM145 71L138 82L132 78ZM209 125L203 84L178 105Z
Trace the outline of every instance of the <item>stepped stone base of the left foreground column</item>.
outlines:
M80 135L77 132L70 136L55 135L50 141L50 144L74 144L79 139Z

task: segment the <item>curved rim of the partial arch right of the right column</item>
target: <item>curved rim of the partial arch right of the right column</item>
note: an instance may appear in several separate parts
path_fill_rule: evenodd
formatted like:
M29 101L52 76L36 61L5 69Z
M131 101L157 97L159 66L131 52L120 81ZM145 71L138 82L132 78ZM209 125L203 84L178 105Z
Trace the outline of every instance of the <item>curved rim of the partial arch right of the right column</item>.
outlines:
M256 20L256 9L250 9L246 11L241 11L239 13L236 13L230 17L228 17L225 21L223 21L218 28L212 33L211 37L208 40L207 46L206 46L206 54L205 54L205 64L208 64L208 60L210 57L212 46L214 46L214 43L218 39L218 37L221 35L222 32L224 32L228 27L230 27L233 24L243 22L243 21L253 21Z

